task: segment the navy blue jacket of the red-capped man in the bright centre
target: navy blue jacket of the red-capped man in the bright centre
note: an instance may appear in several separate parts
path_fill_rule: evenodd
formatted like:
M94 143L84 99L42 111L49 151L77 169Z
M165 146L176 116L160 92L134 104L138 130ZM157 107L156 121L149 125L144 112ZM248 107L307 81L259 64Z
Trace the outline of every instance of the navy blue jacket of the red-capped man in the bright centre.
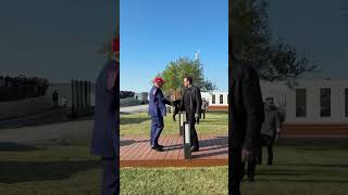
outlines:
M149 116L163 117L166 115L165 104L171 104L162 93L162 90L153 86L149 93Z

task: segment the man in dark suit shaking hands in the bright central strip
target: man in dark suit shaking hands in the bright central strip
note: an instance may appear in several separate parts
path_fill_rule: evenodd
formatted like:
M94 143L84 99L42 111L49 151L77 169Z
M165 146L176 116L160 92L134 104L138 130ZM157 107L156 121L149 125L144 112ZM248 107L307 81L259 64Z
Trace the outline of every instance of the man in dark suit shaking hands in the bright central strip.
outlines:
M192 78L184 78L185 91L182 96L181 110L186 110L186 119L190 125L191 152L199 151L198 135L195 128L196 121L199 120L202 99L199 88L192 86Z

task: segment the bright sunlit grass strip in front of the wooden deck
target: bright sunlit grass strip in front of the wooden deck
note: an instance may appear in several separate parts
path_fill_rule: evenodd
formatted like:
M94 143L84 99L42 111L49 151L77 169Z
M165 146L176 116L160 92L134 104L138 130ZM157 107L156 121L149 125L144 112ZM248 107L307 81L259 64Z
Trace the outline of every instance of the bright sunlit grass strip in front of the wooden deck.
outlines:
M121 169L121 194L227 194L227 167Z

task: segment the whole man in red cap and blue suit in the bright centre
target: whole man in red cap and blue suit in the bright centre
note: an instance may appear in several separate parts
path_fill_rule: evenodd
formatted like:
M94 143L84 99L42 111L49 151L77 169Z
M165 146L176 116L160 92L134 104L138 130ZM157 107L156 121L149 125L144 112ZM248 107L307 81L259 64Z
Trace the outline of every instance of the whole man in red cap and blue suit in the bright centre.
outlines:
M166 115L165 104L171 105L171 102L164 98L161 90L164 82L160 77L154 78L153 87L149 93L149 116L152 119L150 145L152 150L158 152L163 151L163 145L159 144L159 138L164 128L163 116Z

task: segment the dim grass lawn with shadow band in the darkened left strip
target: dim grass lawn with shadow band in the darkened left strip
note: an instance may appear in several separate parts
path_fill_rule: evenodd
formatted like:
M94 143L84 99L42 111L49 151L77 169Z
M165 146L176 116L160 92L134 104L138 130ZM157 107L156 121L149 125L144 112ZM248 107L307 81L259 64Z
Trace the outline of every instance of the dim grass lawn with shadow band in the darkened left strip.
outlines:
M87 145L0 143L1 195L95 195L100 173Z

